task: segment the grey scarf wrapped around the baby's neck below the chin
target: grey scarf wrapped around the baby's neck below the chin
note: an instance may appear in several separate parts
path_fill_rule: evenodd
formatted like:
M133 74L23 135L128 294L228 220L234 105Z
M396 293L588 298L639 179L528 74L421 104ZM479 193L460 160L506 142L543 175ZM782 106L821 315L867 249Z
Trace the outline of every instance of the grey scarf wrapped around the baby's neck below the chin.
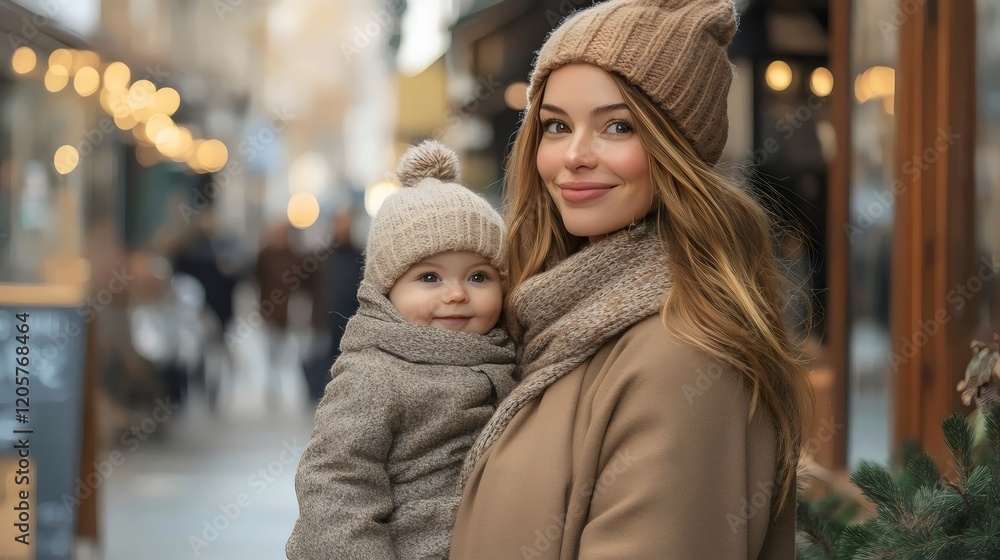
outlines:
M509 370L514 359L514 345L502 328L478 335L409 323L389 299L367 281L358 289L358 301L358 312L348 321L340 341L340 349L345 352L341 356L345 358L341 367L349 367L355 358L370 358L370 355L354 356L352 352L377 348L413 364L480 366L501 397L511 389L513 380ZM335 363L334 375L338 369Z

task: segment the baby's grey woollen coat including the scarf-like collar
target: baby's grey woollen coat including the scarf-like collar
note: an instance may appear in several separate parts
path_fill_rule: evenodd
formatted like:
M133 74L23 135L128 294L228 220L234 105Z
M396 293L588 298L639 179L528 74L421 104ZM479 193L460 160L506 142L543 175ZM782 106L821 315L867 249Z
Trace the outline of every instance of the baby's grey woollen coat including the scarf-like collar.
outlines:
M295 474L291 560L443 558L466 450L514 386L514 347L407 322L362 282Z

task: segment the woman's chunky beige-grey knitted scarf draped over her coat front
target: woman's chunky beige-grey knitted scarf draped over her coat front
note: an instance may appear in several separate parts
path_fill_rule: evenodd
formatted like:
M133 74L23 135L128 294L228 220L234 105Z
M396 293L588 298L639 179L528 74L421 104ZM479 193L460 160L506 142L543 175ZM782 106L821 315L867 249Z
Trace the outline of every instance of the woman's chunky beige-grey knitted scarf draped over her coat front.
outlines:
M609 340L659 312L672 276L656 224L591 243L525 281L511 302L521 383L500 403L462 466L461 485L522 407Z

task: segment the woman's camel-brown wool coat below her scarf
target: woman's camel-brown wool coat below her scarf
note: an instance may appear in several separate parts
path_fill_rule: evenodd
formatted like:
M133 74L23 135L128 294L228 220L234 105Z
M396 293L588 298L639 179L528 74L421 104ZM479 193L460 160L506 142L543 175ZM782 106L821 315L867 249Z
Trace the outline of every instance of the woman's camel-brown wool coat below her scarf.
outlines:
M465 486L453 560L794 558L775 430L654 315L513 417ZM794 498L794 496L793 496Z

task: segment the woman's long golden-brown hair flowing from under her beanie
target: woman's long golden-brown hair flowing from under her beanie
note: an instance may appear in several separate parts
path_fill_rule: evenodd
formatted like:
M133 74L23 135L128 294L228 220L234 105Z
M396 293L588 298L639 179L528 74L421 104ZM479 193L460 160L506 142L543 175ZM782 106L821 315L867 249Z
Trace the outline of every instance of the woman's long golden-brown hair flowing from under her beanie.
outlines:
M648 97L611 76L649 155L653 213L673 272L661 309L664 326L749 382L750 420L763 410L777 431L775 501L784 507L793 495L810 397L798 341L782 316L785 279L772 246L771 219L703 161ZM538 174L543 92L544 85L529 100L506 170L508 308L525 280L584 241L563 227Z

